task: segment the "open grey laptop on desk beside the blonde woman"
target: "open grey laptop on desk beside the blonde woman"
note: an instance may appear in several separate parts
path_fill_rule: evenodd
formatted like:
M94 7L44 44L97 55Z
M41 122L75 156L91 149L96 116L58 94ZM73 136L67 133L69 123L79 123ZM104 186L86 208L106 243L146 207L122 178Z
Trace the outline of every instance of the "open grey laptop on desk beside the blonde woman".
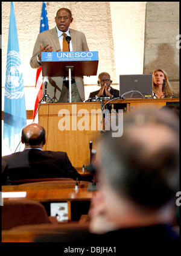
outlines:
M152 74L119 75L119 96L124 98L151 98Z

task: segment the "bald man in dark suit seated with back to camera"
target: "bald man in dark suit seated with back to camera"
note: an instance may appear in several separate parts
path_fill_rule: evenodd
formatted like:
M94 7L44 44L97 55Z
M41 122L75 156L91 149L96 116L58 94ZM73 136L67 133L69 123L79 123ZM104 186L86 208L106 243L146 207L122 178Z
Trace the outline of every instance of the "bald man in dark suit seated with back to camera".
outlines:
M5 175L7 171L10 183L36 178L81 179L66 152L42 150L45 144L45 129L39 124L25 126L22 130L21 142L25 144L24 151L2 157L3 173Z

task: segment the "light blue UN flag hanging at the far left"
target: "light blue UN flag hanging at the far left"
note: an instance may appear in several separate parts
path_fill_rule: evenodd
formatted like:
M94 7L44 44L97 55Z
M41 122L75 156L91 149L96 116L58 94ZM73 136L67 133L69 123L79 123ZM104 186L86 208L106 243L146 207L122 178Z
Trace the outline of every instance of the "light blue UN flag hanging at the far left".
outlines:
M24 82L17 39L14 4L11 2L7 65L4 94L4 139L13 153L19 144L21 130L27 125Z

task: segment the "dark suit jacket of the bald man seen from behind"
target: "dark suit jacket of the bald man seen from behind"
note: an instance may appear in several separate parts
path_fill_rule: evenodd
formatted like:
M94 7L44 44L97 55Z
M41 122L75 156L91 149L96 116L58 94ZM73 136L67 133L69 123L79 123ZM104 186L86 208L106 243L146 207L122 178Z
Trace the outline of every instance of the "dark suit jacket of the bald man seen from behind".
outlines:
M3 156L2 161L5 162L2 166L5 170L2 171L7 171L10 182L19 179L81 177L65 152L26 149Z

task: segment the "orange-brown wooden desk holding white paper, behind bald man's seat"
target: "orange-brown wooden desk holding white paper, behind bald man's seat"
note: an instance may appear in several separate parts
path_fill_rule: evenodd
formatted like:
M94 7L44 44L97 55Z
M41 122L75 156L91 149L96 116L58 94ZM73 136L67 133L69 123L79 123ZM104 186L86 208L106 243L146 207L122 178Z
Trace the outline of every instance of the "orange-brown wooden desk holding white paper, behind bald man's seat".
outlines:
M75 209L75 203L80 206L83 205L83 202L90 202L92 197L97 193L97 191L87 191L88 184L89 182L80 182L78 191L75 191L75 184L55 185L55 183L50 183L38 186L36 184L6 185L2 186L2 192L26 191L26 197L23 197L21 200L34 200L42 203L44 206L46 205L48 208L50 207L51 202L67 202L68 220L71 221L73 202ZM8 200L8 198L4 198L3 200ZM14 198L14 200L16 200L16 198Z

